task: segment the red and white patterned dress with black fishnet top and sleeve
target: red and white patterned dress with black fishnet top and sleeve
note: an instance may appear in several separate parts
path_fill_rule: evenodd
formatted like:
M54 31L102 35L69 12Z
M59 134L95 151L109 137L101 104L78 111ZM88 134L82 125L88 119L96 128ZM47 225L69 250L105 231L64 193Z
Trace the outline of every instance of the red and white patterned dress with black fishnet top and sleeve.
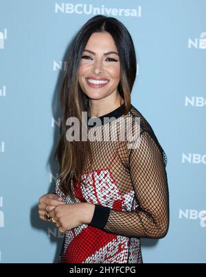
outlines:
M90 139L93 170L89 172L86 166L80 182L73 178L75 200L60 191L60 179L56 179L56 194L65 203L95 204L90 224L65 233L60 263L143 263L140 238L161 239L168 232L165 152L137 108L131 105L126 114L124 109L123 104L98 117L100 123L88 125L91 137L96 138ZM112 121L104 121L105 117ZM132 141L128 136L120 139L131 130Z

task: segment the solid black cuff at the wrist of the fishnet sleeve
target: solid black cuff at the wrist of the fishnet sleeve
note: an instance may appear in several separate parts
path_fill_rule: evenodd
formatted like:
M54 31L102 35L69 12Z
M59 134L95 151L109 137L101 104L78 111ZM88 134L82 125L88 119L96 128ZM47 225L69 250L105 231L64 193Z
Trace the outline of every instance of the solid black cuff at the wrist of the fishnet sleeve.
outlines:
M110 208L95 204L93 218L91 219L91 223L89 225L96 228L104 229L108 220L109 213Z

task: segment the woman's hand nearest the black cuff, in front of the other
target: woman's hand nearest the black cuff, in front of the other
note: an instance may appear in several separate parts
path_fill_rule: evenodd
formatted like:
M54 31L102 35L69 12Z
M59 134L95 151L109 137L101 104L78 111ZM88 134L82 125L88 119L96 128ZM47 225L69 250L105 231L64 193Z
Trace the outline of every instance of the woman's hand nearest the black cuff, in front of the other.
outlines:
M93 217L95 205L91 203L74 203L56 206L49 212L60 232L66 232L82 224L89 224Z

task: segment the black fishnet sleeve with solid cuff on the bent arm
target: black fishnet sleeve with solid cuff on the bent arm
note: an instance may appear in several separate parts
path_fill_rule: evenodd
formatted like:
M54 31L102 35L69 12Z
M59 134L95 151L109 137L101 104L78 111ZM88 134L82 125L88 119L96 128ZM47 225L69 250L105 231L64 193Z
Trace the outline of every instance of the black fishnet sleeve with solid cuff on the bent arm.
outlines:
M161 239L169 227L168 178L162 149L142 132L130 149L128 168L138 208L119 211L95 205L90 225L127 237Z

